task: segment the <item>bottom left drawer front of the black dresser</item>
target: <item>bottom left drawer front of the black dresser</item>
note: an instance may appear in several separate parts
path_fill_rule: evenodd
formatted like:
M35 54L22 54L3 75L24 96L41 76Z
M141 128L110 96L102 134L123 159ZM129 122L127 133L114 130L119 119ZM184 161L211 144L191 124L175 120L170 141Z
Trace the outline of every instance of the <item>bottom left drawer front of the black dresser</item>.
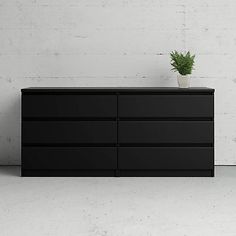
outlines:
M22 167L34 170L116 169L114 147L24 147Z

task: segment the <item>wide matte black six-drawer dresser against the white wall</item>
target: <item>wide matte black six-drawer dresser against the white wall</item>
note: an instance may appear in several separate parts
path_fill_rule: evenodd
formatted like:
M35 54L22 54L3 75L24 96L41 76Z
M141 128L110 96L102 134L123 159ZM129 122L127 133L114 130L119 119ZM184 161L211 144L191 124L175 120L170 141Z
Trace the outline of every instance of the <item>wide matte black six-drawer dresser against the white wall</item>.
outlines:
M214 176L214 89L22 89L22 176Z

